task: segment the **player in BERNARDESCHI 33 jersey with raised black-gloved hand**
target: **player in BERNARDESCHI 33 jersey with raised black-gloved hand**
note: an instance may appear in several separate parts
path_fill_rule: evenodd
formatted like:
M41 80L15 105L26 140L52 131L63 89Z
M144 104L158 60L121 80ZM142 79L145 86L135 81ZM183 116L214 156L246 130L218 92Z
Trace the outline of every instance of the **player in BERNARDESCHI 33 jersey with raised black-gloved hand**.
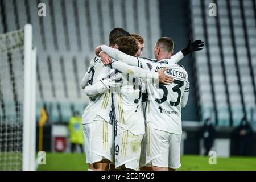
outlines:
M193 43L190 40L188 46L179 53L187 55L192 51L203 49L201 48L203 46L204 44L200 40ZM152 72L167 68L167 75L175 78L175 82L169 86L147 84L146 163L151 166L152 170L172 170L180 167L181 107L185 107L187 104L189 82L185 69L170 59L173 47L170 38L160 38L155 44L156 59L142 60L125 55L116 49L101 46L102 51L114 59L125 61L130 65L137 65Z

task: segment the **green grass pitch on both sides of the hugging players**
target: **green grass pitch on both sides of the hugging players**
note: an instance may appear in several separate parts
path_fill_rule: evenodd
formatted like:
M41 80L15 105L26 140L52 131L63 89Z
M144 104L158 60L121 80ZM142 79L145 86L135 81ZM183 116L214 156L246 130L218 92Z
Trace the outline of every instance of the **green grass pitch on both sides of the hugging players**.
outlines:
M256 171L256 158L231 157L217 158L217 164L209 164L208 156L183 155L181 156L180 171ZM88 165L85 163L85 155L82 154L46 154L46 164L38 166L38 170L68 170L85 171Z

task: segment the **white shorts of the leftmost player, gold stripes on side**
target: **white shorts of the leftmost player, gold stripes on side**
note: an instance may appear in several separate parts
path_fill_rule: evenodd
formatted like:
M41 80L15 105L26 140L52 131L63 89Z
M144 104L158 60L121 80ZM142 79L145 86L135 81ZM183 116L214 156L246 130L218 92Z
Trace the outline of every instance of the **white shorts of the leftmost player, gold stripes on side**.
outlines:
M86 163L92 164L108 159L114 159L113 126L104 119L82 125L85 139Z

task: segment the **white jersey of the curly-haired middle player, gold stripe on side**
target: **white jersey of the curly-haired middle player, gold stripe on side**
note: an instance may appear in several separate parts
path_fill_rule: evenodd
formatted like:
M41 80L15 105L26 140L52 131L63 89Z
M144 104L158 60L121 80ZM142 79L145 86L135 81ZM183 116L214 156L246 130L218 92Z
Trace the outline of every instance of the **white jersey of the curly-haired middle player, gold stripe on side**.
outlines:
M113 112L117 122L115 123L115 135L128 130L134 135L144 134L141 79L127 77L115 69L110 72L110 76L102 79L101 82L112 89Z

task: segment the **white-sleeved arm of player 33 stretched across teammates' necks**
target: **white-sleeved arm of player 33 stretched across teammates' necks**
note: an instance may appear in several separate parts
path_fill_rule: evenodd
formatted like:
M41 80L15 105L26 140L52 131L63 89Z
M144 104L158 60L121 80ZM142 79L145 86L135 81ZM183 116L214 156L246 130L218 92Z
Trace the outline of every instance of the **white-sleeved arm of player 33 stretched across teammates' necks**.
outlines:
M102 45L101 50L106 52L110 57L112 57L115 60L122 61L129 65L139 67L139 60L137 59L137 57L127 55L126 53L123 53L118 49L106 45Z

